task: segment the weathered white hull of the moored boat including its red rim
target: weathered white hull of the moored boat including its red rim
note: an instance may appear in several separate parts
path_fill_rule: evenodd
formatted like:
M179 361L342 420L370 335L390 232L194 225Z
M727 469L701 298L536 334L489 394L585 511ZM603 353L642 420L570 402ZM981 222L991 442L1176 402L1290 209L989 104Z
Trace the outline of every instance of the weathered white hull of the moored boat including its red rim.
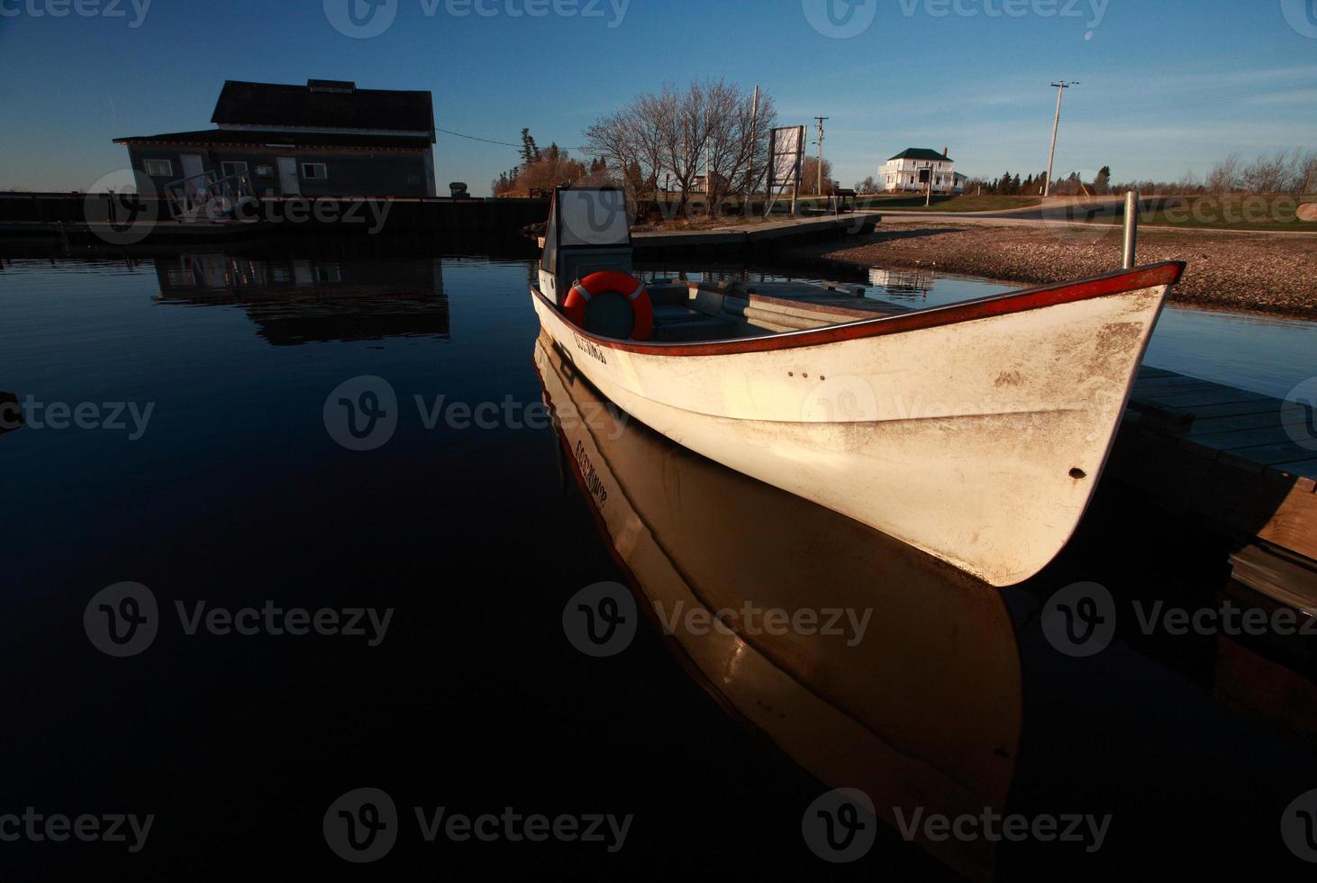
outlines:
M1077 526L1179 277L1164 268L685 347L593 337L532 298L633 418L1000 586L1042 569Z

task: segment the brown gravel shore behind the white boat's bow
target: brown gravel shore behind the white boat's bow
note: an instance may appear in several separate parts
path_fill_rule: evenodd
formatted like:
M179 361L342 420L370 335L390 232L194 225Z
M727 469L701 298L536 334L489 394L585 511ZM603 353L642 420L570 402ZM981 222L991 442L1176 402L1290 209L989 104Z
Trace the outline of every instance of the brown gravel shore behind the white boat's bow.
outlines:
M817 245L802 256L913 266L1006 282L1064 282L1121 265L1121 229L1060 225L884 220L844 248ZM1217 231L1139 231L1139 264L1187 261L1173 303L1317 319L1317 236Z

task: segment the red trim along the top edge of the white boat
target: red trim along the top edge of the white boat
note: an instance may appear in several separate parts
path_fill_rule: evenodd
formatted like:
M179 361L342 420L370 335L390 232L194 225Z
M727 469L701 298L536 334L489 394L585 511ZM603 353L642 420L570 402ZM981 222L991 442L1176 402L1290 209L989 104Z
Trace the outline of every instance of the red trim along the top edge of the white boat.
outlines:
M824 328L811 328L809 331L789 331L769 337L744 337L738 340L716 340L709 343L635 343L630 340L615 340L612 337L597 337L582 328L573 326L576 332L601 347L619 349L628 353L643 353L647 356L728 356L732 353L757 353L774 349L797 349L803 347L818 347L822 344L835 344L843 340L859 340L861 337L880 337L896 335L903 331L919 328L936 328L951 326L959 322L972 322L975 319L988 319L990 316L1005 316L1013 312L1026 312L1040 310L1060 303L1073 303L1076 300L1089 300L1109 294L1123 294L1139 289L1151 289L1159 285L1175 285L1184 273L1184 261L1166 261L1164 264L1150 264L1148 266L1133 270L1115 270L1104 275L1094 275L1076 282L1062 282L1058 285L1039 286L1036 289L1023 289L1021 291L1008 291L977 300L964 303L951 303L944 307L919 310L894 316L878 316L876 319L861 319L840 326L827 326ZM531 287L531 294L549 310L557 307L545 298L539 289ZM560 314L561 315L561 314ZM572 324L572 323L568 323Z

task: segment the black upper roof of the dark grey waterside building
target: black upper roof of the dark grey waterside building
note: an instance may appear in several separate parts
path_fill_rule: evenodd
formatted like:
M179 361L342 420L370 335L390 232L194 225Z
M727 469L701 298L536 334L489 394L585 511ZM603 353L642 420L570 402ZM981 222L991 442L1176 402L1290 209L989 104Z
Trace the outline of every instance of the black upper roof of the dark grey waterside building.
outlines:
M307 80L306 86L225 80L211 123L428 132L435 141L429 92L357 88L348 80Z

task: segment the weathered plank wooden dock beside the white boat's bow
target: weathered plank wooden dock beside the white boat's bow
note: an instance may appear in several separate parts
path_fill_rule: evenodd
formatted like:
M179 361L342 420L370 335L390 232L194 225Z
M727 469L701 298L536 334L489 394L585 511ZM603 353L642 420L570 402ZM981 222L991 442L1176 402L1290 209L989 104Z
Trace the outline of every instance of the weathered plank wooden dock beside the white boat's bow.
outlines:
M1108 473L1245 544L1317 561L1312 407L1144 366Z

